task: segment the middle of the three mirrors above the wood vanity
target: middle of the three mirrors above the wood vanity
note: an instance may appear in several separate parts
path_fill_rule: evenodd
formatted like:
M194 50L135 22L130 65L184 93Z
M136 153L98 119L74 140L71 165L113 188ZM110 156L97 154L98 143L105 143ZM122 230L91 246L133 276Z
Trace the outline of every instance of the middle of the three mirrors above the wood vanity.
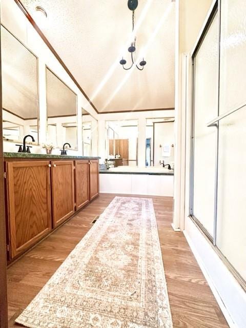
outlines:
M46 67L47 144L77 150L77 95Z

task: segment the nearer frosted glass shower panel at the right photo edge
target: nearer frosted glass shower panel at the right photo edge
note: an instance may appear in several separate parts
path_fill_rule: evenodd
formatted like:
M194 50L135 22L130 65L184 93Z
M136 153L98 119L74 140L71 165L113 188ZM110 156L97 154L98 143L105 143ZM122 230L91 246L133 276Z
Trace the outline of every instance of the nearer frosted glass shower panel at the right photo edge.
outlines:
M216 245L246 281L246 6L221 2Z

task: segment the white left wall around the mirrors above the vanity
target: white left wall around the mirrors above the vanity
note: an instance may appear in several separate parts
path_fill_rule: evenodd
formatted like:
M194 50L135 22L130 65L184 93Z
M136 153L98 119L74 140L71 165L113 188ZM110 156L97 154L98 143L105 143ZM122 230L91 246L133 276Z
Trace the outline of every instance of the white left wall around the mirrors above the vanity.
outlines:
M70 154L82 153L82 116L83 107L88 113L97 118L98 114L89 104L85 96L80 92L73 80L69 77L65 69L59 64L58 60L46 46L42 38L38 35L24 13L18 8L14 1L1 1L1 22L13 33L27 48L29 48L38 57L38 88L39 88L39 144L46 143L46 74L45 65L64 81L77 94L77 113L78 113L78 150L69 151ZM95 135L97 133L95 132ZM17 151L13 142L4 141L4 151ZM41 146L33 146L33 153L45 153ZM59 153L56 149L54 153ZM93 155L97 155L97 139L93 145Z

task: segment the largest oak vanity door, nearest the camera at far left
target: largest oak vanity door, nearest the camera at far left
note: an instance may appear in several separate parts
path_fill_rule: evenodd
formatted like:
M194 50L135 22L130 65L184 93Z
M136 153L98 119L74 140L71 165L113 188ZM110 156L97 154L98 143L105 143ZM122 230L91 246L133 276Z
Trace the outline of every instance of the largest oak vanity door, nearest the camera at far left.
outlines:
M51 230L49 161L7 162L11 258Z

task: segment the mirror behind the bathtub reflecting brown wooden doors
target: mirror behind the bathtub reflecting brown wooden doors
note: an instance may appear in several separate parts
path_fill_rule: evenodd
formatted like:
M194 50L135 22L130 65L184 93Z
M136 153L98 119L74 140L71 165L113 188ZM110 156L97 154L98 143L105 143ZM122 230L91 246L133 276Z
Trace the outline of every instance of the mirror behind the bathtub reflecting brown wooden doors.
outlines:
M108 167L137 166L138 120L106 121Z

